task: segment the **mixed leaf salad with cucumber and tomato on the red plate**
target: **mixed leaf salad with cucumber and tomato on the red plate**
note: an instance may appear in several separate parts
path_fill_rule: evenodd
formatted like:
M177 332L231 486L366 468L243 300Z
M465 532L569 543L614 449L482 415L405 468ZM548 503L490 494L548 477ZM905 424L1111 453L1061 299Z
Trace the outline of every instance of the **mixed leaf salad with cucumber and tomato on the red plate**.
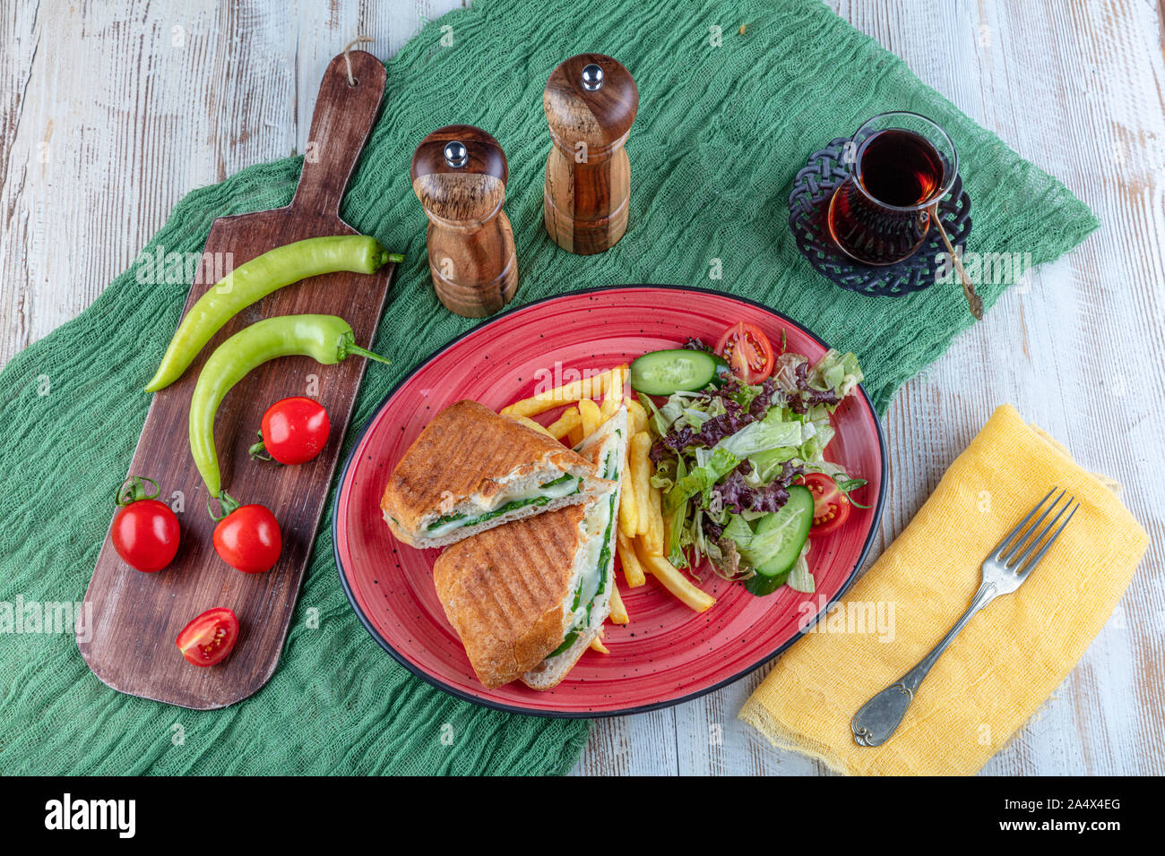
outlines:
M715 362L679 356L685 352ZM862 380L857 359L829 351L811 365L783 353L754 383L723 367L696 339L631 366L654 439L664 553L690 571L707 563L756 595L783 585L812 592L809 536L843 525L857 505L850 491L866 483L825 459L834 437L829 417Z

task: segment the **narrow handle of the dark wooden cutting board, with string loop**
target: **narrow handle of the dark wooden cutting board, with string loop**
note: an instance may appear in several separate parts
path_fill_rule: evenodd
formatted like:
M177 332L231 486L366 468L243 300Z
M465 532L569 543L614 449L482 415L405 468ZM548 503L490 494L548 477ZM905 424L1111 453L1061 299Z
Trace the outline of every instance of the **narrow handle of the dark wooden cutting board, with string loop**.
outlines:
M363 50L348 51L352 77L344 54L327 65L319 85L303 170L291 207L303 212L339 217L340 199L347 190L360 151L384 97L384 65Z

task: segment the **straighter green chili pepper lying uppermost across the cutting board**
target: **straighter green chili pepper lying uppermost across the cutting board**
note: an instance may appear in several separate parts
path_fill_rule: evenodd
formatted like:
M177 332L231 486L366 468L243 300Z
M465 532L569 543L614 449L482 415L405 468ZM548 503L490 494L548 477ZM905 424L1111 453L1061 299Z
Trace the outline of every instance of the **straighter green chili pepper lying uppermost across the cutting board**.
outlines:
M309 276L339 270L374 274L387 262L402 261L403 255L386 252L375 238L330 235L276 247L240 264L190 307L146 391L156 392L178 380L224 324L273 291Z

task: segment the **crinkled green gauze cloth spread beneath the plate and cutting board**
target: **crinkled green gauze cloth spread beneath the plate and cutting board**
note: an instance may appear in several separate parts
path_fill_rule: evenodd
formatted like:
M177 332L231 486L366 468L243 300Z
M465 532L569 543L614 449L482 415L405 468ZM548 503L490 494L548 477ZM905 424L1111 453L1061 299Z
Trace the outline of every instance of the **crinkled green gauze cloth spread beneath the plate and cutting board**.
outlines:
M719 44L713 27L720 28ZM442 44L443 35L452 45ZM542 225L550 147L542 90L557 63L581 51L621 59L641 95L627 144L630 229L614 249L586 257L558 249ZM506 211L517 240L518 303L581 285L726 289L857 353L867 389L884 410L894 390L968 325L958 288L896 299L836 289L797 254L786 197L812 150L895 108L934 118L959 147L973 200L969 249L1031 253L1039 263L1096 228L1058 181L817 0L706 0L665 12L635 0L476 0L425 27L388 64L383 115L341 208L358 229L408 254L376 340L394 363L369 367L344 454L393 384L473 324L433 297L425 218L409 184L417 142L452 122L489 130L508 155ZM191 192L148 249L200 252L216 217L285 205L299 164L259 164ZM713 259L721 280L709 280ZM988 306L1002 288L982 286ZM146 417L148 396L137 390L162 356L185 296L184 284L139 284L130 269L0 374L0 602L82 597ZM71 634L12 634L0 608L0 770L570 770L586 742L586 722L474 707L411 677L381 651L340 589L330 509L275 677L225 710L196 713L116 693L90 673ZM309 625L309 608L318 610L318 628Z

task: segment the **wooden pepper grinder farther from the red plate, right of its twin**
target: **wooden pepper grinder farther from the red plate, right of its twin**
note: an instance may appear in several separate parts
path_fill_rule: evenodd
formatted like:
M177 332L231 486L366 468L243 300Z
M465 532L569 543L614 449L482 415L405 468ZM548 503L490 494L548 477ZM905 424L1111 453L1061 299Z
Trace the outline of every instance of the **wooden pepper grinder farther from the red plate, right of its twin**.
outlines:
M579 255L614 247L627 232L623 143L640 108L635 80L609 56L579 54L551 73L542 106L555 142L543 191L546 232Z

